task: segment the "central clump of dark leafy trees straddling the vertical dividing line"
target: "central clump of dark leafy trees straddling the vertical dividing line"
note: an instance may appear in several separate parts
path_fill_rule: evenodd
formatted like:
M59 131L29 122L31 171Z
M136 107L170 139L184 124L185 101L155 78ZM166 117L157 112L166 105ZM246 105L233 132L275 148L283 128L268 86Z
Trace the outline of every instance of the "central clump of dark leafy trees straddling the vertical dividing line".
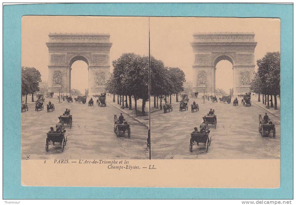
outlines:
M141 114L145 114L145 105L149 100L149 63L150 94L154 96L154 107L158 108L158 98L160 98L160 109L162 109L162 99L166 101L167 96L170 96L171 102L172 94L178 94L184 90L185 74L179 68L165 67L161 60L154 57L150 57L149 62L147 56L123 53L112 62L114 70L106 83L106 92L113 94L113 102L116 94L118 104L122 103L124 107L125 101L126 107L132 110L133 98L137 114L137 100L142 99Z

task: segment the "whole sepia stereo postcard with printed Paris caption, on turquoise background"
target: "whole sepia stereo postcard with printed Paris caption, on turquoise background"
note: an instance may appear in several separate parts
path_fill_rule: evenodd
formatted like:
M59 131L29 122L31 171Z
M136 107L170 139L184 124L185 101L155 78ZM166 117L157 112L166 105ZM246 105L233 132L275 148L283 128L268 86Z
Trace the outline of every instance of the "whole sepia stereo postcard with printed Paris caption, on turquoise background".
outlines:
M279 187L280 28L23 16L22 185Z

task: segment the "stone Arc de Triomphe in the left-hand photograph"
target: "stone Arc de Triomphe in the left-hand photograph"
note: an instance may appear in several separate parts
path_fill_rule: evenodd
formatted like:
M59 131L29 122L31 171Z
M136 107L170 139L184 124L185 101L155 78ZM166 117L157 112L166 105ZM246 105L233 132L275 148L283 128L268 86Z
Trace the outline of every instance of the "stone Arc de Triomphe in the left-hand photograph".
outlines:
M76 60L83 60L88 65L89 94L104 92L110 70L110 35L49 33L48 36L49 92L70 93L71 65Z

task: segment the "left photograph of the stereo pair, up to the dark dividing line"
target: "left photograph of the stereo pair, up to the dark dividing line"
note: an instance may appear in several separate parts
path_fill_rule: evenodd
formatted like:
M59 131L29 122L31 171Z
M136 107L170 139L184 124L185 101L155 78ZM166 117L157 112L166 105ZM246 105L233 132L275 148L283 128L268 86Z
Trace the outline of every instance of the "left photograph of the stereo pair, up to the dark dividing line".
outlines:
M148 17L24 16L21 159L149 159Z

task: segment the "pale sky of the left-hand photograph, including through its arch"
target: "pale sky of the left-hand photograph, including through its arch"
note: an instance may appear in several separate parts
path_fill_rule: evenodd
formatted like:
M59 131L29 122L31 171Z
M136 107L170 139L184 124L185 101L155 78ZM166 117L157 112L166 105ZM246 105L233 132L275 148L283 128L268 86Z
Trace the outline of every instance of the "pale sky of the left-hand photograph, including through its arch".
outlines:
M46 42L49 33L109 33L112 71L112 61L122 53L149 55L148 22L148 17L24 16L22 66L35 67L40 71L42 81L48 81ZM81 92L88 87L87 64L83 61L76 61L72 65L71 87Z

